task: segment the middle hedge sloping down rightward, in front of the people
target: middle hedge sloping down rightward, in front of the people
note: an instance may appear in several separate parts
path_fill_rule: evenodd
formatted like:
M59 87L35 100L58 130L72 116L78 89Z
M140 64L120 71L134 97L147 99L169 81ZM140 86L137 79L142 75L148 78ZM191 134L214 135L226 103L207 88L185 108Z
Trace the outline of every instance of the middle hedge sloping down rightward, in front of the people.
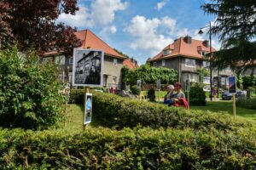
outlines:
M191 127L230 130L251 126L251 123L233 120L229 115L210 111L191 111L179 107L135 99L121 98L114 94L93 94L93 114L106 127Z

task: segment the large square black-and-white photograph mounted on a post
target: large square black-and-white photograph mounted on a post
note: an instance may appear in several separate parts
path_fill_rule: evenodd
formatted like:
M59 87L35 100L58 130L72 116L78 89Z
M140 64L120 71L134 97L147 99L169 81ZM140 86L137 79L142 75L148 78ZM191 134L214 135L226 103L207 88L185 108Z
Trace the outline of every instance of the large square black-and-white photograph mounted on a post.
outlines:
M75 48L73 52L73 86L102 87L103 52Z

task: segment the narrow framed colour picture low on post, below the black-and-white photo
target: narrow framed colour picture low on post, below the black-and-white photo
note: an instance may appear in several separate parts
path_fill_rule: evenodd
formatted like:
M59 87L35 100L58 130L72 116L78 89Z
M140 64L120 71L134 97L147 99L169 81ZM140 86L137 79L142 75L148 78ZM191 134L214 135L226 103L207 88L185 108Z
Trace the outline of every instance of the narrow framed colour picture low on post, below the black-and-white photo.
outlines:
M92 94L85 94L85 105L84 105L84 125L91 122L92 115Z

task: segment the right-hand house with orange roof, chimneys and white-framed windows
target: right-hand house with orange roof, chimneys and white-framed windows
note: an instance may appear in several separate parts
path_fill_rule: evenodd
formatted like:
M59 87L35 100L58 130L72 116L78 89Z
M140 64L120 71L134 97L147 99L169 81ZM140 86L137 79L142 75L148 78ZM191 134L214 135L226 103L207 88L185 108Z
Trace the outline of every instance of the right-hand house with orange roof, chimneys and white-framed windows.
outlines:
M212 52L216 51L212 48ZM155 67L172 68L178 73L178 80L184 86L186 80L199 82L199 69L209 70L210 62L207 53L210 52L208 41L199 41L191 37L179 37L169 44L152 59L148 59L150 65ZM229 68L218 70L212 69L212 86L226 88L228 77L234 72ZM210 77L203 77L203 82L210 89Z

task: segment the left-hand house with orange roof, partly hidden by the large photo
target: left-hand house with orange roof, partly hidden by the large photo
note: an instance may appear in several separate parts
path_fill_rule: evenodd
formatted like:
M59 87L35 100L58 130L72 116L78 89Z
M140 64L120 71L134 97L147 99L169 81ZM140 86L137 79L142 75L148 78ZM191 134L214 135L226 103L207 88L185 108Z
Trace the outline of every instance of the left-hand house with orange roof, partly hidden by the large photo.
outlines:
M103 42L101 38L97 37L92 31L84 30L77 31L75 35L82 41L82 46L79 48L84 49L99 49L104 52L104 68L103 68L103 87L106 88L121 88L121 68L123 67L123 62L126 59L125 56L117 53L113 48L111 48L106 42ZM92 57L92 56L87 56ZM85 56L84 56L85 59ZM83 62L86 62L82 59ZM42 58L43 64L52 61L59 64L59 78L63 82L72 82L73 77L73 56L65 56L61 52L51 51L44 53ZM89 68L88 68L89 69ZM86 71L84 72L84 74Z

